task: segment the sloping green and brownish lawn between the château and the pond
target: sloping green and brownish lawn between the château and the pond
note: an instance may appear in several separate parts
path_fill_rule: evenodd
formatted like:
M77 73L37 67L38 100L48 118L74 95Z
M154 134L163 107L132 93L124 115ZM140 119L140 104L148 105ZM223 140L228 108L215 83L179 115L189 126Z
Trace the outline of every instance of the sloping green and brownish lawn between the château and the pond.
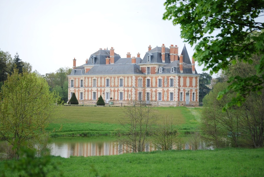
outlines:
M153 113L159 117L157 124L169 117L180 132L190 133L197 130L201 109L156 107ZM114 106L63 106L60 118L52 121L46 130L51 132L50 136L115 135L124 132L119 121L126 116L125 110L126 107ZM62 130L58 131L61 125Z

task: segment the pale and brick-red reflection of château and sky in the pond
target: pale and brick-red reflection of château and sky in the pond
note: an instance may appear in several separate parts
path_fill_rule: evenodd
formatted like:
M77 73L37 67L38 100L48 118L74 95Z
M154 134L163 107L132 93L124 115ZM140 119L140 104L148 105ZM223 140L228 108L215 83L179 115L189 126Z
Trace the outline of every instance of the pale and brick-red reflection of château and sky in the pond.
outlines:
M176 149L176 147L174 147ZM70 156L100 156L100 155L119 155L131 150L118 142L75 142L75 143L56 143L50 144L51 155L61 156L69 158ZM188 144L185 144L182 148L192 149ZM145 152L151 152L157 150L152 144L146 143Z

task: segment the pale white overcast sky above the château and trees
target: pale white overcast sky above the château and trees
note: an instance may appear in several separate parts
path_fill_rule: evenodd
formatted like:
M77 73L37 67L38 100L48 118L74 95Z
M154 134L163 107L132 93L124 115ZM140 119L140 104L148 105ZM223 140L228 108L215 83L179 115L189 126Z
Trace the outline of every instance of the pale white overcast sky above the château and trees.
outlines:
M184 46L180 27L162 20L165 0L1 0L0 48L41 74L82 65L99 48L141 58L164 44ZM189 57L194 47L185 43ZM196 70L202 67L196 63Z

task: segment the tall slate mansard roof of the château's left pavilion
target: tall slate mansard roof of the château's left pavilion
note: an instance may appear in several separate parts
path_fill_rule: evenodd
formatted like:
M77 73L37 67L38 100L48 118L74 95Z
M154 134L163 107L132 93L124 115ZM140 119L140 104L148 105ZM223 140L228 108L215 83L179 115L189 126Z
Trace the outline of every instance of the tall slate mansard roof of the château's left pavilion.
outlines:
M116 61L121 58L120 55L114 53L115 59L114 62L116 63ZM105 58L110 58L110 50L98 50L97 52L93 53L92 55L90 55L90 58L88 59L88 62L86 65L92 65L92 58L95 58L95 65L105 65Z

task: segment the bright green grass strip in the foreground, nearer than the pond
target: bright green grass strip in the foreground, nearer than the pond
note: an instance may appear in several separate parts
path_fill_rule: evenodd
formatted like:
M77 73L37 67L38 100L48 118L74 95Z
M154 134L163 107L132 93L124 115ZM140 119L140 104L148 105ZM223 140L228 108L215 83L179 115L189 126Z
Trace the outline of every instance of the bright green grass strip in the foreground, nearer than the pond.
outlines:
M153 151L92 157L52 157L59 170L49 176L264 176L264 149ZM0 170L4 170L0 161ZM16 176L6 171L6 176Z

